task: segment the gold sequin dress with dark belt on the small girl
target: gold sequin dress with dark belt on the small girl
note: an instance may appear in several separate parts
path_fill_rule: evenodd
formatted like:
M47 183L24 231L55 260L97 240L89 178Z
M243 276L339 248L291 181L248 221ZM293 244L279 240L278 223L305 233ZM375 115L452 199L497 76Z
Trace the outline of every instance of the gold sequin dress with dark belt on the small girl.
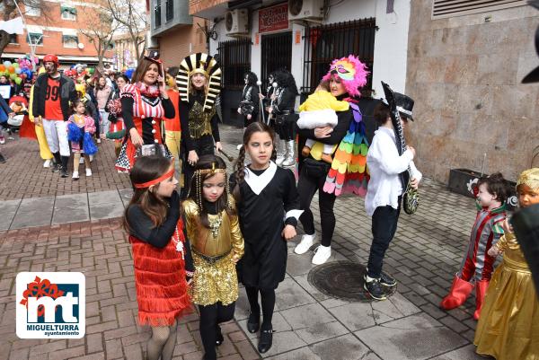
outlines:
M229 204L234 206L231 197ZM193 303L223 305L238 298L238 277L233 259L243 256L243 236L237 215L208 214L210 229L200 224L199 206L187 199L183 202L187 236L195 265L195 275L190 287Z

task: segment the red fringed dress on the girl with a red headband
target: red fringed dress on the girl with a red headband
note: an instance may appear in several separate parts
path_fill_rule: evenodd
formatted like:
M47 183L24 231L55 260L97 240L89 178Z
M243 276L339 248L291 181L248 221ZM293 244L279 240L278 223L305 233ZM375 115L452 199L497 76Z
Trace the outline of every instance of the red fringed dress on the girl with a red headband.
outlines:
M164 248L129 236L133 247L138 322L141 325L171 326L190 308L185 271L186 244L180 219L172 239ZM181 249L181 251L179 251Z

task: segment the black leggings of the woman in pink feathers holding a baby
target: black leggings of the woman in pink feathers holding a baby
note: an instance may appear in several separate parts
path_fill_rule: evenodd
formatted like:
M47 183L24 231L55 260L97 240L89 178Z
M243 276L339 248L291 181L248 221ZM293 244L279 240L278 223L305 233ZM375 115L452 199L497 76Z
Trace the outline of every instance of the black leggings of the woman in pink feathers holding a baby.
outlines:
M302 167L297 181L297 192L299 194L299 208L304 213L299 216L299 221L303 225L304 232L308 235L314 234L314 216L310 209L314 194L318 191L318 207L320 208L320 223L322 225L322 244L331 245L331 238L335 230L335 195L328 194L323 190L326 174L308 174L305 167Z

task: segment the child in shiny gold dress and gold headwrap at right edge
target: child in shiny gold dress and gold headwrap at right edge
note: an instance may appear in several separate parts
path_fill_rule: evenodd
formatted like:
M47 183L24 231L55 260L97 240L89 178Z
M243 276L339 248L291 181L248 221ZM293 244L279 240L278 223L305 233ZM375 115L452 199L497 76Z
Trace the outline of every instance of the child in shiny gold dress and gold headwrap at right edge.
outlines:
M529 169L517 180L521 207L539 204L539 168ZM481 355L497 360L539 360L539 301L530 268L508 221L505 235L489 250L503 254L490 280L475 330L473 344Z

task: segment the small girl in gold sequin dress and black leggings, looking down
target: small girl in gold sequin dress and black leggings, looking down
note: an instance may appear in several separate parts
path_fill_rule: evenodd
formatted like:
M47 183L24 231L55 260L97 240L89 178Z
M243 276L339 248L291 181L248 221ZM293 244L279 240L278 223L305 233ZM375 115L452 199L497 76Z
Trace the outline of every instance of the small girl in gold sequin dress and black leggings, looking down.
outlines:
M243 256L243 236L223 159L215 155L199 158L183 210L195 264L191 298L199 305L204 359L213 360L216 345L224 339L218 324L234 317L238 298L235 264Z

